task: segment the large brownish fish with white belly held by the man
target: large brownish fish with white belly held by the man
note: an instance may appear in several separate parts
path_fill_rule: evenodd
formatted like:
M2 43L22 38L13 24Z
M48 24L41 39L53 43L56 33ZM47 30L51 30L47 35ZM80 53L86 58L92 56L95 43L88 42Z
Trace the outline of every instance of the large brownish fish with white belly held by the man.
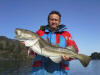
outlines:
M69 56L70 58L78 59L84 67L87 67L91 60L87 55L77 54L73 46L71 48L62 48L51 45L47 40L32 31L16 28L15 33L15 38L19 41L24 41L25 46L30 47L29 50L33 50L39 55L49 57L55 63L62 61L61 56Z

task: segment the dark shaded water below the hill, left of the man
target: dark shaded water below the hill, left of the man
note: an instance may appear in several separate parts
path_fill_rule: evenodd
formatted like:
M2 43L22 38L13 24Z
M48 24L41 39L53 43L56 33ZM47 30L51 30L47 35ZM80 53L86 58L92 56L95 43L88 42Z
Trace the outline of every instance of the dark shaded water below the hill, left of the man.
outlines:
M0 61L0 75L28 75L31 70L32 63L30 61Z

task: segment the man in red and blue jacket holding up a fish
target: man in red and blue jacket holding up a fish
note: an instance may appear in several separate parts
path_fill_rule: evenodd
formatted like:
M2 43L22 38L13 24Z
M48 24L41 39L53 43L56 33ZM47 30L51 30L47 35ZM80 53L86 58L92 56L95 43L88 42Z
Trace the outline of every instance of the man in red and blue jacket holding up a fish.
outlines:
M75 46L74 40L66 29L65 25L60 25L61 14L57 11L51 11L48 15L48 25L41 26L37 34L42 38L49 40L51 44L57 44L60 47ZM49 58L35 54L33 69L31 75L69 75L69 61L72 58L62 56L61 63L54 63Z

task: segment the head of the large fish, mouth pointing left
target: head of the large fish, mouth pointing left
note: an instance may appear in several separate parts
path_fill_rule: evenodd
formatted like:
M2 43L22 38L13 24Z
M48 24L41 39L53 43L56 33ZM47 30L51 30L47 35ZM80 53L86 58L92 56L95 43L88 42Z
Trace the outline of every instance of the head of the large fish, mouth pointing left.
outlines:
M16 34L15 38L18 39L19 41L34 40L37 38L36 33L25 29L16 28L15 34Z

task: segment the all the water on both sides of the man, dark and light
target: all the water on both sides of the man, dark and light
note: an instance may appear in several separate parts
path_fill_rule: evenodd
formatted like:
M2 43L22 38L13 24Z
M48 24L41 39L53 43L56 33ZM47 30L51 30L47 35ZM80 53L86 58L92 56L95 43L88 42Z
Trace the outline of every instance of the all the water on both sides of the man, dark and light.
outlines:
M0 61L0 75L28 75L32 67L26 62ZM84 68L78 60L70 62L71 75L100 75L100 60L92 60Z

